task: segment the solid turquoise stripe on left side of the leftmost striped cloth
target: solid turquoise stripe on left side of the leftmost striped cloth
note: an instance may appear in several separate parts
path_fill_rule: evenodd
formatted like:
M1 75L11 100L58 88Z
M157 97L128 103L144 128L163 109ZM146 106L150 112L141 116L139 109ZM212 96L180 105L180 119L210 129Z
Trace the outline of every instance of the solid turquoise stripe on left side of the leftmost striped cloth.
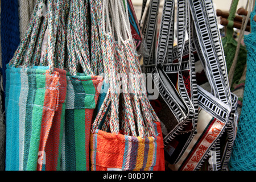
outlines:
M6 69L6 171L19 170L20 69L9 65Z

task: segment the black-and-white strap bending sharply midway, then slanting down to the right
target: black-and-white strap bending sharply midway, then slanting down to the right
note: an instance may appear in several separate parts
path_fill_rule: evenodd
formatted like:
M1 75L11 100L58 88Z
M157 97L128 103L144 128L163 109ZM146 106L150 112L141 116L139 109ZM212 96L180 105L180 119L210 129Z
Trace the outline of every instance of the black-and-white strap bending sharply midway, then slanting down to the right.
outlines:
M158 47L156 48L156 68L152 73L159 74L159 93L166 104L170 107L170 110L174 113L177 121L182 122L185 118L187 118L189 108L162 68L168 49L171 20L173 20L173 16L174 1L164 1L162 20L158 36ZM180 67L180 63L177 64L177 67ZM169 135L171 134L168 134L167 138L170 137Z

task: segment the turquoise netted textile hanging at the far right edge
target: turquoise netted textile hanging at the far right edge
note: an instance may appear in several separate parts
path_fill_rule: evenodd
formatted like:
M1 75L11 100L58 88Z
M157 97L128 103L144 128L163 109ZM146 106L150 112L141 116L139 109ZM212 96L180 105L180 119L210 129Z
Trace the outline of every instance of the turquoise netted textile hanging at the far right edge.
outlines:
M251 12L251 17L256 14L256 6ZM254 171L256 169L256 93L255 93L255 61L256 61L256 22L251 18L251 33L245 36L247 49L247 70L243 105L240 122L238 123L237 138L230 158L229 167L232 171Z

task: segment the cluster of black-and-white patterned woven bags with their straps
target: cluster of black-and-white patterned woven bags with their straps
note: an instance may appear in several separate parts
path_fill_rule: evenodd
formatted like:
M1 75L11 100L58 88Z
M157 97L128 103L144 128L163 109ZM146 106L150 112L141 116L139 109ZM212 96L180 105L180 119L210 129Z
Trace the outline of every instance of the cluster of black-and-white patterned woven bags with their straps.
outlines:
M206 163L207 170L226 169L236 135L237 97L229 90L213 3L177 1L174 47L174 1L165 1L154 52L149 42L156 39L157 29L152 32L147 27L154 27L158 6L152 0L148 9L156 12L145 16L149 22L143 24L146 31L142 32L150 54L143 61L146 72L159 74L160 101L171 111L168 118L160 117L167 166L199 170ZM224 141L228 137L228 142L221 143L221 136ZM208 163L209 159L214 161Z

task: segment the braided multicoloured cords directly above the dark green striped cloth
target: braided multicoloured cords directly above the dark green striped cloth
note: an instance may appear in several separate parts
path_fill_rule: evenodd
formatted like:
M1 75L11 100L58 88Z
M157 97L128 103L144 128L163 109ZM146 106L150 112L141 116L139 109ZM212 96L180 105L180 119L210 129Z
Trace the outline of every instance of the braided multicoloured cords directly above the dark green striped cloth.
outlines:
M68 20L68 69L76 75L77 66L81 65L86 75L95 75L91 67L88 35L88 1L76 0L70 2Z

